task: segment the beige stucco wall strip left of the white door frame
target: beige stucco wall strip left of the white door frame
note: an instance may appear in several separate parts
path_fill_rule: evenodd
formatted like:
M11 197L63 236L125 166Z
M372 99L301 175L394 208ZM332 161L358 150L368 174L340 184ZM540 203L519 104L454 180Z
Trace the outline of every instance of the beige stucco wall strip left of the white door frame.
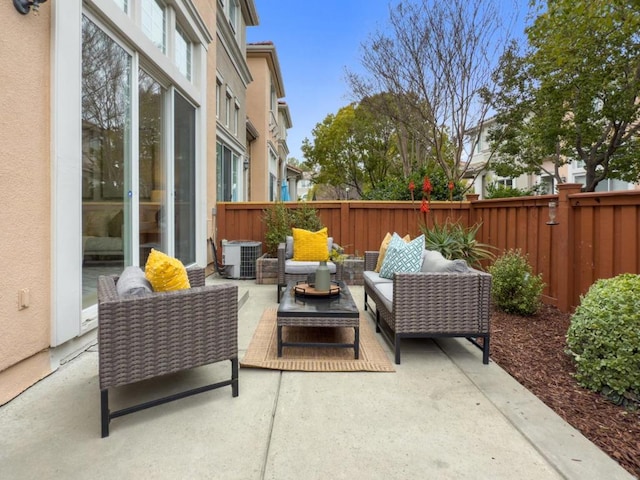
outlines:
M0 405L50 373L49 7L0 2Z

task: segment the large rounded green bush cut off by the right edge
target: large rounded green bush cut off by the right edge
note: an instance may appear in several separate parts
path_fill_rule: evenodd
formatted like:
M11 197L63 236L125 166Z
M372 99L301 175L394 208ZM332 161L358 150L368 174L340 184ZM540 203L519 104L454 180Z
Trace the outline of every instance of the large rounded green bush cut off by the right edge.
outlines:
M580 385L640 405L640 275L596 281L571 317L567 347Z

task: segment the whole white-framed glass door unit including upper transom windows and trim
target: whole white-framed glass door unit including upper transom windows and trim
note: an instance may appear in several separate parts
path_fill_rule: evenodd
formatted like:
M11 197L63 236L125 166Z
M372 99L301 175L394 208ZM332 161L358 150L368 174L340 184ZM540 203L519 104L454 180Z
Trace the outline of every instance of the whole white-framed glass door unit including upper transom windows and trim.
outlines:
M204 85L188 77L212 38L191 3L51 5L52 346L97 326L99 275L151 248L206 263Z

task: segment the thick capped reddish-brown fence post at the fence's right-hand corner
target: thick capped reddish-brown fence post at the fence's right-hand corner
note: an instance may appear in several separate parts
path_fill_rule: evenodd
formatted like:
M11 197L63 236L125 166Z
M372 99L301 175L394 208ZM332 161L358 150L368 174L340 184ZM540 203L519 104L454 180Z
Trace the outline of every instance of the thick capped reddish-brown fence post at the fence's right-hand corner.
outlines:
M574 193L580 193L582 184L580 183L562 183L558 185L558 207L557 222L558 225L551 227L555 229L557 235L554 242L554 268L556 278L558 279L558 310L561 312L569 312L573 303L573 294L575 292L575 266L573 264L574 251L574 220L573 209L569 201L569 196Z

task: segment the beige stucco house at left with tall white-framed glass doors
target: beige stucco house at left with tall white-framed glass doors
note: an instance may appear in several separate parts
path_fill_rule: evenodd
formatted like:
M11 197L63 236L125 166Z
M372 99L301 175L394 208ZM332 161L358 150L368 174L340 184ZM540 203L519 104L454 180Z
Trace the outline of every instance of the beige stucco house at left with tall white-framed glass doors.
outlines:
M241 172L266 136L245 113L257 23L253 0L0 2L0 405L95 343L98 275L152 248L207 265L218 145Z

